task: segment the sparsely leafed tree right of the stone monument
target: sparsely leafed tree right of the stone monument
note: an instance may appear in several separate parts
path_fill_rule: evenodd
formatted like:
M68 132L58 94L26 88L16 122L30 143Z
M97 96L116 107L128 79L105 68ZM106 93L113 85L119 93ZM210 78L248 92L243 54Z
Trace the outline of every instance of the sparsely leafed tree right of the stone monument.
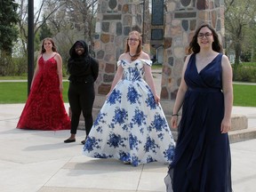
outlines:
M255 0L225 0L225 29L226 37L235 50L235 68L238 66L244 47L250 47L252 41L246 41L253 36L252 25L255 25ZM255 28L255 26L253 27ZM246 44L245 44L246 43Z

